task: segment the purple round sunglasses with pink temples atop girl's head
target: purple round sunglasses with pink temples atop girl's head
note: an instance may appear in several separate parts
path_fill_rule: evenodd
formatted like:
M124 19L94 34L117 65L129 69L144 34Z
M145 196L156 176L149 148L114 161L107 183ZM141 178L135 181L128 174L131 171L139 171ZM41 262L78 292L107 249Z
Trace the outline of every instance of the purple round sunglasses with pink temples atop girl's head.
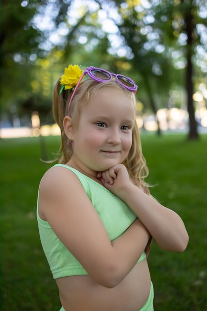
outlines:
M69 100L69 107L74 97L74 94L76 92L76 89L78 88L80 82L82 81L82 79L84 78L86 74L88 75L89 78L91 78L92 80L96 82L108 82L108 81L111 81L113 78L115 78L115 81L117 83L121 84L129 91L132 91L135 94L137 93L138 86L135 84L135 82L131 78L127 78L123 75L115 75L115 74L108 72L107 70L90 66L86 68L86 70L83 72L82 76L80 77L79 81L77 82L72 92L72 95L70 97L70 100Z

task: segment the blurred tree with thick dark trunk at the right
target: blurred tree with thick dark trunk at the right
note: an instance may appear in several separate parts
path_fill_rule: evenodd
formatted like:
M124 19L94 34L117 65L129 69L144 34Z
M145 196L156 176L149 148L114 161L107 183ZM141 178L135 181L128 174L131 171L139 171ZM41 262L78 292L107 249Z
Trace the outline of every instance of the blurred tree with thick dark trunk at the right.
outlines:
M169 1L168 1L169 2ZM170 1L171 2L171 1ZM189 139L198 139L197 123L195 120L195 108L193 93L195 85L195 67L199 64L200 50L207 52L207 40L204 42L204 34L207 31L207 2L203 0L180 0L168 4L172 16L169 29L166 32L168 38L182 51L185 57L185 86L187 93L187 108L189 113ZM169 14L168 14L169 16ZM202 29L202 30L201 30ZM202 74L200 68L200 75Z

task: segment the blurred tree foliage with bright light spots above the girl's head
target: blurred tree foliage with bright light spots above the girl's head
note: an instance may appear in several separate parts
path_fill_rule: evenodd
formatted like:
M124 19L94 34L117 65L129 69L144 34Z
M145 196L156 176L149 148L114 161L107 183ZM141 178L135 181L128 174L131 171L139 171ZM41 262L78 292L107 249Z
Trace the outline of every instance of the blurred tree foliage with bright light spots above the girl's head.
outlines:
M205 83L204 0L1 2L0 107L11 119L13 111L23 115L35 109L42 123L51 120L53 86L69 63L93 64L134 78L143 112L148 113L172 105L172 89L188 91L189 50L191 91ZM189 10L191 42L186 22ZM176 105L183 107L183 98Z

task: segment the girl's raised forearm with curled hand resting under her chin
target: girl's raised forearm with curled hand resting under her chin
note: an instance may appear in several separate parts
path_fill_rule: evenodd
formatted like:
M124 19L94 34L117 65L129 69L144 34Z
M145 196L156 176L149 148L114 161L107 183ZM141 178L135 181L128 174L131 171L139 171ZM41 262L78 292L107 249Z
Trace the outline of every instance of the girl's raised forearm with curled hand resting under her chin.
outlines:
M160 248L175 252L185 250L189 237L182 219L135 186L123 164L98 173L98 177L133 210Z

